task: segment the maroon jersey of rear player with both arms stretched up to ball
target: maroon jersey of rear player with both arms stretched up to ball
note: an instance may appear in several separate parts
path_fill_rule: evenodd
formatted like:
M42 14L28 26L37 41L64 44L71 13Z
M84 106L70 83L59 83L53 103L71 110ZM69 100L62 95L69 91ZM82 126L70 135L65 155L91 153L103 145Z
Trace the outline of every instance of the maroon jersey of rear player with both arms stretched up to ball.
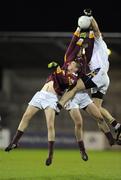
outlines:
M89 62L92 57L93 47L94 47L94 33L93 31L89 32L89 37L84 40L84 44L87 44L85 48L85 53L82 54L80 57L77 56L78 52L80 51L80 44L79 42L80 34L74 33L71 43L67 49L65 54L66 61L76 60L80 64L79 70L79 77L83 77L85 74L89 72Z

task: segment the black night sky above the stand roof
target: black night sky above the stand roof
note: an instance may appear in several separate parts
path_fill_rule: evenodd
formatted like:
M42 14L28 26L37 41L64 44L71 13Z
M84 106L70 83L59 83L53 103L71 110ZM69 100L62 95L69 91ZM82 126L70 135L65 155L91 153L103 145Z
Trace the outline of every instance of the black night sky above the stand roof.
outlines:
M121 32L120 1L4 1L0 31L72 31L84 8L90 7L104 32Z

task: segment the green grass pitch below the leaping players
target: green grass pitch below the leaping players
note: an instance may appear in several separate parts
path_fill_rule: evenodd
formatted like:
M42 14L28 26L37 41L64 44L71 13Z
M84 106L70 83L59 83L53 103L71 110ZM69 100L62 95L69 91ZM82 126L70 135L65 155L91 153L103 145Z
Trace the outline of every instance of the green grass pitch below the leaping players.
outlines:
M121 152L89 151L84 162L77 150L55 150L45 166L46 150L0 151L0 180L121 180Z

